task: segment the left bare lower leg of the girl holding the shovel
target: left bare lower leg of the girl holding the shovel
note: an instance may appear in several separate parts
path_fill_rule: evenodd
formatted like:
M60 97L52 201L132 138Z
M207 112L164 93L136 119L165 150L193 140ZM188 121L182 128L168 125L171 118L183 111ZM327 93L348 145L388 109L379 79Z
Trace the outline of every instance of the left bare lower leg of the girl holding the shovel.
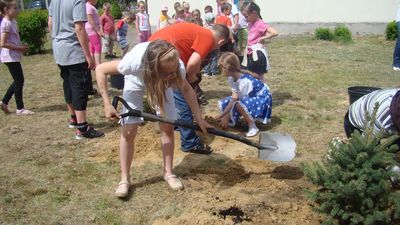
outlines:
M129 124L121 128L119 140L119 160L121 166L121 181L130 182L130 169L132 165L135 137L138 125Z

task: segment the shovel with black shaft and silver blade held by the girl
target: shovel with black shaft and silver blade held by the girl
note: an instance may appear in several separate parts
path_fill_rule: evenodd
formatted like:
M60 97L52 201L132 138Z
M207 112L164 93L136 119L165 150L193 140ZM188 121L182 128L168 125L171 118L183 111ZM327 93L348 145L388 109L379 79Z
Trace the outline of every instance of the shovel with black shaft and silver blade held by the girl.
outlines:
M163 123L172 124L179 127L184 127L192 130L201 131L200 127L194 124L189 124L182 122L180 120L170 120L164 117L156 116L150 113L141 112L139 110L132 109L128 103L121 97L115 96L112 105L116 109L118 106L118 101L120 101L125 108L128 110L127 113L121 114L121 118L127 116L143 117L147 121L159 121ZM259 143L252 140L246 139L242 136L228 133L222 130L208 128L208 133L215 134L217 136L230 138L236 141L240 141L244 144L256 147L258 149L258 158L261 160L272 160L278 162L287 162L292 160L296 155L296 142L290 135L270 133L270 132L260 132Z

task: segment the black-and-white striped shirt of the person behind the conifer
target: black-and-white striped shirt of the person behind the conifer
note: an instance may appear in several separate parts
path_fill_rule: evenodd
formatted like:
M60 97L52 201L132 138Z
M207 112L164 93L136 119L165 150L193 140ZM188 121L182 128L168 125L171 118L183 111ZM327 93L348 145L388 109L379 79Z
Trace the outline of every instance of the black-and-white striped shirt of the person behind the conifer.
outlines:
M385 137L397 133L393 126L393 121L389 113L390 103L393 96L399 89L385 89L371 92L362 96L356 102L351 104L349 108L350 123L360 130L364 130L366 115L372 116L375 104L378 103L378 110L376 112L376 120L374 123L373 133L378 134L383 130Z

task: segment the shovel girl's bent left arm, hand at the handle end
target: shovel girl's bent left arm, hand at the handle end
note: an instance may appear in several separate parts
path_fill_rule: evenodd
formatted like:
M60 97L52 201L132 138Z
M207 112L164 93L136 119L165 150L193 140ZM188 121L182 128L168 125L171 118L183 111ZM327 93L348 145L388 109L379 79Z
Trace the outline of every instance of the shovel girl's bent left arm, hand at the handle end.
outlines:
M117 75L118 64L121 60L109 61L96 67L96 81L104 103L104 114L107 118L119 117L117 110L112 106L108 96L107 75Z

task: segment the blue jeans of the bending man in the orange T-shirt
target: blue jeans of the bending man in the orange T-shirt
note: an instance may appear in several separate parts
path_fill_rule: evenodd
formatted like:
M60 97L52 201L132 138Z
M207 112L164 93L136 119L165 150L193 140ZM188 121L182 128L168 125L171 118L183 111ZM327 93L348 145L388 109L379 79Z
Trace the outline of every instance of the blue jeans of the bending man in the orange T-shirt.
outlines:
M193 123L193 114L189 105L186 103L185 98L181 91L174 91L175 107L178 113L178 119L185 123ZM191 129L179 127L181 133L181 148L182 151L188 151L195 146L201 144L196 132Z

